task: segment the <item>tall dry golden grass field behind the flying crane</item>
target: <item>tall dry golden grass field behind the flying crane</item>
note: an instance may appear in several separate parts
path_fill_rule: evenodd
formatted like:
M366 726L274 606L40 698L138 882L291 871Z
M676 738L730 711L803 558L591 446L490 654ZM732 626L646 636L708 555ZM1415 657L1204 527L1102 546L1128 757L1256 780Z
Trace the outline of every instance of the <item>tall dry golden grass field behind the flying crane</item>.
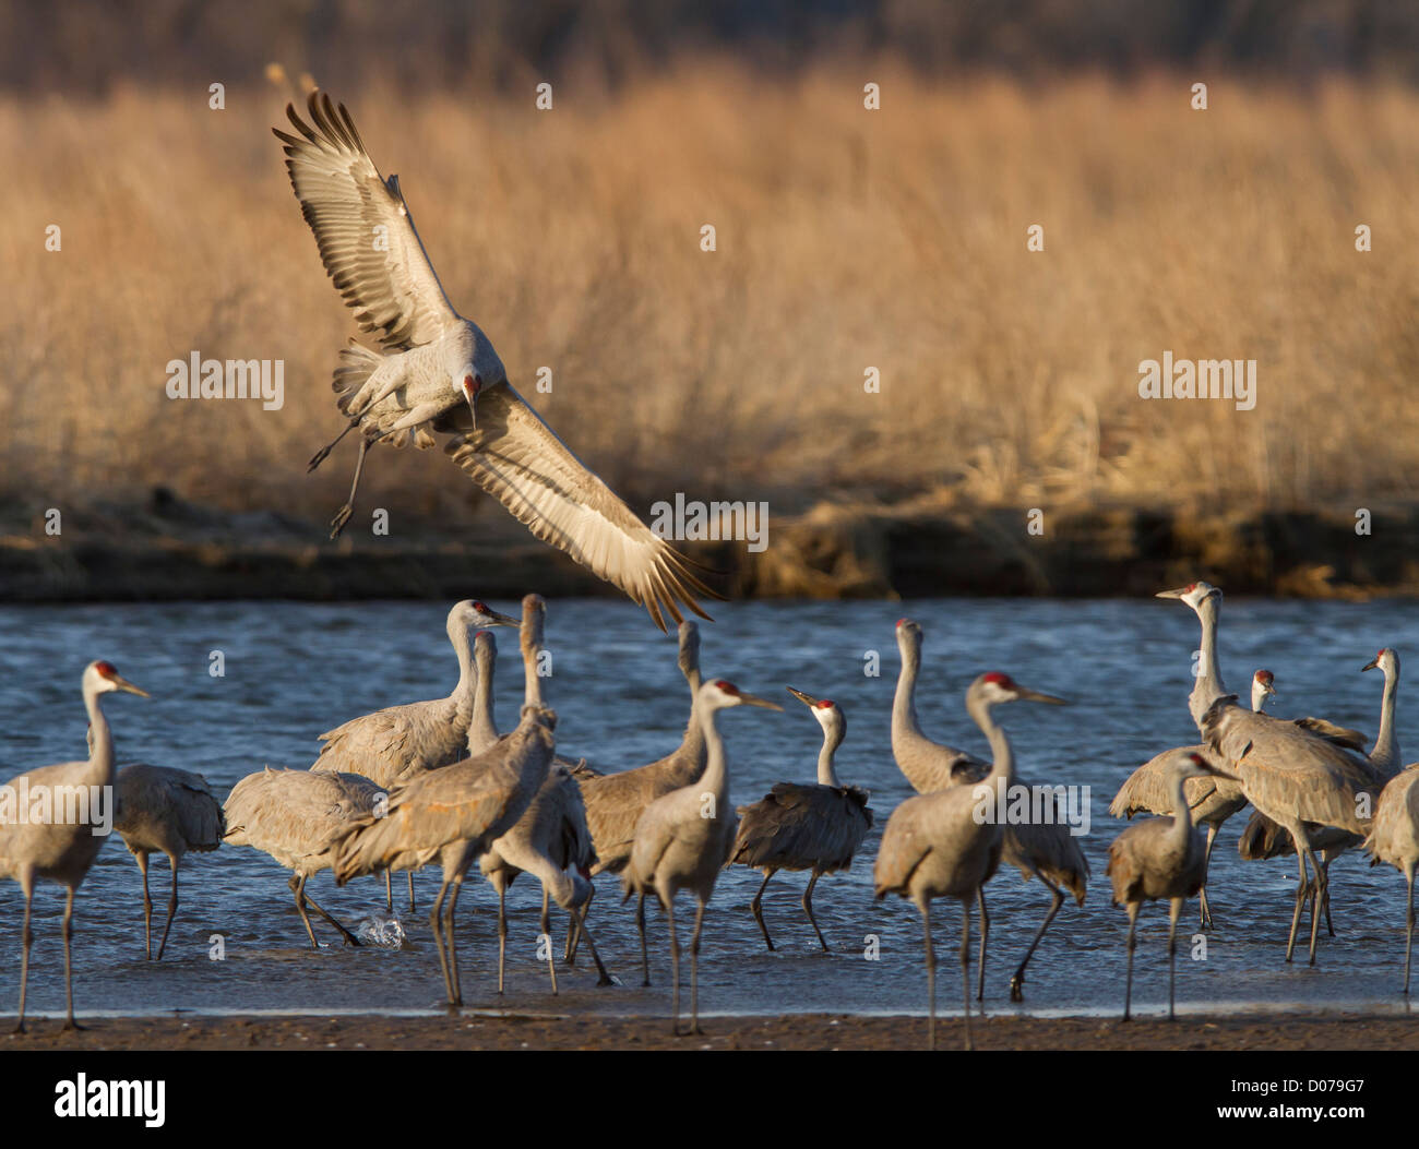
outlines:
M402 174L454 305L641 506L1412 495L1419 96L1213 84L1193 112L1186 79L868 78L880 112L851 70L702 67L586 106L562 88L551 113L333 95ZM268 131L280 105L0 104L9 496L341 501L352 448L304 470L339 427L328 380L353 328ZM193 349L285 359L285 409L167 400L165 363ZM1257 359L1256 410L1141 401L1138 362L1165 349ZM555 392L535 396L543 365ZM376 453L368 482L368 505L426 515L481 501L413 451Z

